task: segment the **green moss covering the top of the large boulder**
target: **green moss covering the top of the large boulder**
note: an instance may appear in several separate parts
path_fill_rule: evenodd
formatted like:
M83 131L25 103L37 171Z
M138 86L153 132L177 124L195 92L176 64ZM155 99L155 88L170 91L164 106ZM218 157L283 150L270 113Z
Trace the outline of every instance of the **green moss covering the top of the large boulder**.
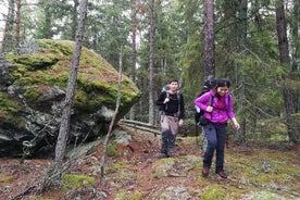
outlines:
M66 88L75 43L66 40L37 40L38 52L34 54L7 55L13 63L10 80L26 88L27 101L36 101L40 86ZM99 54L82 49L74 99L75 112L90 113L102 104L114 109L117 98L117 72ZM126 76L122 80L121 108L127 110L133 98L140 91Z

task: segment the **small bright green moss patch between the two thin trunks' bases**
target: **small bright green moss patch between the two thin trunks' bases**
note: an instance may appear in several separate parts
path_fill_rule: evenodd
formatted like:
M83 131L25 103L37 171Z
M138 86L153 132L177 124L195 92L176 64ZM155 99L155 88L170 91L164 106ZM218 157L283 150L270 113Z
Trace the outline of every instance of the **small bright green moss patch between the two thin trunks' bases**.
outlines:
M79 188L80 186L86 186L91 188L95 184L95 177L76 175L76 174L63 174L62 175L63 191Z

